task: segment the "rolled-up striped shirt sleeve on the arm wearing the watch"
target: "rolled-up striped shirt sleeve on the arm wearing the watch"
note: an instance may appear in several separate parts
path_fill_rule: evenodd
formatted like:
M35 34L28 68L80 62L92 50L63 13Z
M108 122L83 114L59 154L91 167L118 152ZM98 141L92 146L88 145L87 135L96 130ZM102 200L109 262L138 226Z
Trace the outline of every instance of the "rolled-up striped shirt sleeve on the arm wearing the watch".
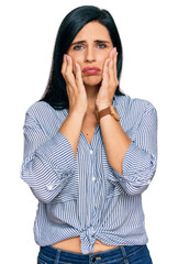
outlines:
M129 195L140 195L151 184L156 164L157 112L149 103L143 113L136 136L123 157L123 175L115 169L113 169L113 174Z

